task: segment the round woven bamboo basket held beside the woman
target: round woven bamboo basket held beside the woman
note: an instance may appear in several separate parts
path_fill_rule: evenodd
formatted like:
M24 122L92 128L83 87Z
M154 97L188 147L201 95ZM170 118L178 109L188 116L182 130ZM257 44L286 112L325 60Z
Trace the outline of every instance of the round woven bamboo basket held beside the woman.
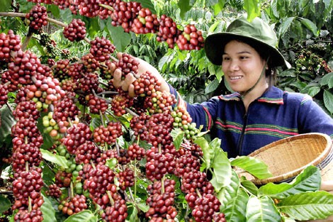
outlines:
M273 174L267 179L257 179L247 172L239 173L257 185L290 182L309 165L320 168L322 181L333 179L332 139L322 133L305 133L277 140L249 156L264 161Z

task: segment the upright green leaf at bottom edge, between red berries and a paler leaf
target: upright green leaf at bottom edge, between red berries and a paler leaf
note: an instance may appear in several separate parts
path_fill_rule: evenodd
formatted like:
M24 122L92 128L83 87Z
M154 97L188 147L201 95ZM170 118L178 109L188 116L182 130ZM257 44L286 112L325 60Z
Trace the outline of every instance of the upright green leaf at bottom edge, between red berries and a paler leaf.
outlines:
M225 219L228 222L247 221L247 201L249 201L249 195L244 189L239 188L237 195L227 205L227 209L222 211L225 213Z

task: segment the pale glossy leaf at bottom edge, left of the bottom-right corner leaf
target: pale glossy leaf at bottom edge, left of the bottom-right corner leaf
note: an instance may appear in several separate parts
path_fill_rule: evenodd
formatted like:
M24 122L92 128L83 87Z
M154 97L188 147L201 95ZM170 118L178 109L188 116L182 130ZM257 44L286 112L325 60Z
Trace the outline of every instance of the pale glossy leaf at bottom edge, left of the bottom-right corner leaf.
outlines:
M281 221L280 213L269 196L251 196L247 202L247 222Z

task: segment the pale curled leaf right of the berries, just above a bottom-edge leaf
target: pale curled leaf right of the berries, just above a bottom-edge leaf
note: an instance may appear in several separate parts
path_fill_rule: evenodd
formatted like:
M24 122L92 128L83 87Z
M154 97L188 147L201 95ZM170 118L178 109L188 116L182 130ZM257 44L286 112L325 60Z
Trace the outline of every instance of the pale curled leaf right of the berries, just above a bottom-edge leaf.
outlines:
M229 206L230 201L232 201L232 199L234 199L235 196L237 196L237 192L239 189L240 185L239 177L235 172L235 170L232 170L232 177L230 179L231 179L230 184L227 187L223 187L220 190L217 190L216 187L214 187L215 190L217 190L218 192L217 197L221 202L220 209L222 211L224 211L227 208L227 206Z

